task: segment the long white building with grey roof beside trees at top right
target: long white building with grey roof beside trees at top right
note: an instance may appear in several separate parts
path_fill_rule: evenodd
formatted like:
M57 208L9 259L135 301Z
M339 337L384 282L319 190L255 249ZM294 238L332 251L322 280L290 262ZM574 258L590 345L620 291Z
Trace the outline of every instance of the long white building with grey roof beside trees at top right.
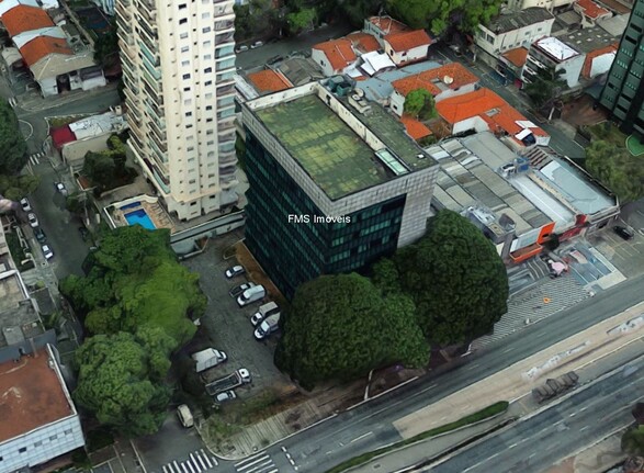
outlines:
M543 8L529 8L499 15L487 26L478 25L474 43L484 53L482 59L496 67L502 53L529 47L534 41L549 36L554 20L554 15Z

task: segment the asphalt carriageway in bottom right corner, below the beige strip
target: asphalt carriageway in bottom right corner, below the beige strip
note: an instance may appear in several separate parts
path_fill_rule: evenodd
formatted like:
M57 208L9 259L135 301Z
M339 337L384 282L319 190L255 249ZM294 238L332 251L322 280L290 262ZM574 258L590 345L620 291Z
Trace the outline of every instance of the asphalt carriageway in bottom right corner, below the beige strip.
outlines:
M644 397L643 369L641 357L427 471L540 473L633 423L631 408Z

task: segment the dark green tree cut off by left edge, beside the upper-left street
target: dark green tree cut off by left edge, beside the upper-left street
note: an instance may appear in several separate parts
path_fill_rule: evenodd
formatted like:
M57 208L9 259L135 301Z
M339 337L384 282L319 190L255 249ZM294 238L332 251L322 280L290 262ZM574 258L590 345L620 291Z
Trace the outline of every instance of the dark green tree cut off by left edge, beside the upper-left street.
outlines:
M16 174L26 165L26 143L20 131L18 116L0 100L0 174Z

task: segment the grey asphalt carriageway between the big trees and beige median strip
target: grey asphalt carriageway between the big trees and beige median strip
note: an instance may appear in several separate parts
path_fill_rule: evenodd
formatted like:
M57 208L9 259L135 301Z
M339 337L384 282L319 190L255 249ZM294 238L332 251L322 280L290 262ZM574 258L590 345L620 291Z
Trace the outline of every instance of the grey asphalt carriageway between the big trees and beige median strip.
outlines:
M392 423L476 381L556 344L644 300L642 277L586 300L566 312L493 344L484 351L451 367L449 373L426 376L399 390L324 421L267 450L283 471L291 465L286 448L298 472L326 472L358 454L399 440ZM511 349L511 350L509 350ZM498 399L494 399L498 401ZM231 471L231 470L229 470ZM282 471L282 470L281 470Z

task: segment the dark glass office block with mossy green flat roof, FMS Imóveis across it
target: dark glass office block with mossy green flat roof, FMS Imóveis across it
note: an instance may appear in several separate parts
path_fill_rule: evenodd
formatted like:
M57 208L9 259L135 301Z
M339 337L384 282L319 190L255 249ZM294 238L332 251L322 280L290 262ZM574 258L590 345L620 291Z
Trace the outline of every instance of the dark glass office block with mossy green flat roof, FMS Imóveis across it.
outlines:
M341 78L246 102L246 243L289 299L423 235L437 164Z

